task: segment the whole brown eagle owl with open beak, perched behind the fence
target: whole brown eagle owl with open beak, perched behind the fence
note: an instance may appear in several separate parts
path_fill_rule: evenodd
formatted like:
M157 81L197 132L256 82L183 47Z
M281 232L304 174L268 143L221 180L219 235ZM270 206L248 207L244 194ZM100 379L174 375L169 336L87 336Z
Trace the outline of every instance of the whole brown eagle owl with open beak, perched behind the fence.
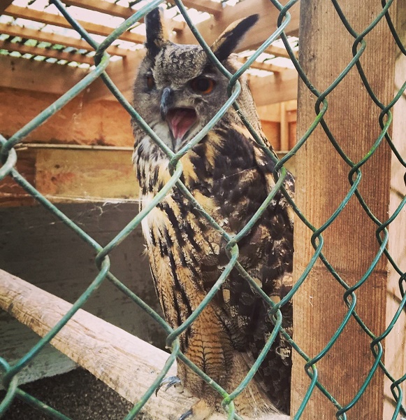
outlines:
M239 20L212 45L231 73L238 69L232 54L257 15ZM200 45L168 41L159 9L145 17L146 55L133 88L133 105L173 152L193 139L229 98L229 80L212 64ZM261 130L252 94L240 78L238 104L254 130L272 150ZM170 179L167 155L133 121L133 162L140 184L141 207ZM237 234L275 186L275 163L256 143L238 113L229 108L221 120L181 159L180 181L205 211L229 234ZM293 194L293 177L284 188ZM142 221L154 286L166 321L184 323L219 279L229 257L226 241L182 191L173 189ZM292 209L279 191L262 216L238 241L238 261L275 302L291 288ZM270 337L269 307L237 269L191 326L180 335L181 351L231 393ZM283 327L291 334L292 307L282 307ZM268 419L289 412L291 347L279 334L259 371L235 399L244 419ZM194 420L224 412L222 396L188 367L178 363L184 388L199 398L189 412Z

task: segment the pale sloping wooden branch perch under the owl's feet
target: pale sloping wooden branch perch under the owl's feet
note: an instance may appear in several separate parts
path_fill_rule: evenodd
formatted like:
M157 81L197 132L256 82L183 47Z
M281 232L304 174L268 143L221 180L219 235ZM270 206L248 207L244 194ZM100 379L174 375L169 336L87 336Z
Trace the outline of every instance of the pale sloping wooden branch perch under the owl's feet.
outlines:
M71 304L0 269L0 307L44 336L71 308ZM82 309L71 318L50 344L126 400L136 403L157 378L168 353L144 342ZM168 376L176 374L173 365ZM177 393L174 388L160 391L147 401L145 412L154 420L175 420L196 398ZM225 415L211 420L226 419ZM270 416L269 420L289 420Z

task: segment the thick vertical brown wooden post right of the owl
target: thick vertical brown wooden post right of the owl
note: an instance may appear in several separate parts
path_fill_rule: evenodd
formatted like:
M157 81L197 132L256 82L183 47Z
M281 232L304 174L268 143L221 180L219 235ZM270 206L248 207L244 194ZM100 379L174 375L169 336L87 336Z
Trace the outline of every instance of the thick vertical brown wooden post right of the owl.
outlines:
M362 5L351 0L339 3L350 25L358 33L368 27L382 10L381 2L376 0L365 0ZM395 2L391 6L393 20L400 3L397 5ZM351 61L354 38L342 24L332 1L302 0L300 11L299 61L312 84L322 92ZM361 64L379 100L388 104L393 98L396 50L385 19L365 37L365 41L367 47L361 57ZM355 67L327 99L326 123L342 150L353 162L358 162L379 136L380 109L369 97ZM298 140L315 118L315 101L314 95L300 81ZM401 120L405 120L404 114L400 116L400 113L396 113L393 127L400 124ZM349 166L340 158L320 126L297 153L296 159L296 204L310 223L319 228L349 191ZM358 190L373 214L380 221L386 221L389 209L393 211L393 206L390 207L389 196L391 151L385 142L361 171L363 175ZM340 216L323 232L324 255L351 286L361 279L377 254L379 246L375 237L376 229L377 225L372 223L356 197L353 197ZM314 254L311 236L312 232L296 218L295 279L303 273ZM394 244L394 241L391 243ZM398 238L396 246L405 247L404 233ZM381 258L368 280L356 291L356 311L375 335L384 332L390 318L390 307L392 316L394 313L394 297L393 294L389 295L389 288L396 293L396 307L399 304L400 293L396 287L390 286L388 269L388 261ZM293 338L310 357L324 349L347 314L343 293L344 289L321 260L317 261L296 293L293 301ZM398 329L404 331L404 319L400 322L403 324ZM353 400L370 372L375 360L370 351L370 341L354 318L351 318L331 351L317 363L319 381L342 406ZM383 344L385 362L396 354L404 360L403 349L400 347L403 339L399 339L398 335L390 335ZM391 374L396 378L405 373L404 369L400 372L403 364L396 368L393 364ZM293 353L292 414L296 414L310 386L310 379L303 367L303 358ZM386 420L391 419L393 407L391 414L389 412L389 409L384 411L384 374L377 370L361 400L347 412L347 418ZM335 419L335 413L332 402L315 389L300 419Z

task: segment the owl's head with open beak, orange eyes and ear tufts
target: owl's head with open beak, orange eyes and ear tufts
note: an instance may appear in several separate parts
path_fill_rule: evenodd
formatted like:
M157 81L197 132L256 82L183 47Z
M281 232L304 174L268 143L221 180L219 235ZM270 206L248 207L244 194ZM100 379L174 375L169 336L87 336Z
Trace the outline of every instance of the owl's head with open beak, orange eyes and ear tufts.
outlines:
M212 52L231 73L238 69L232 52L258 20L251 15L230 25ZM168 40L159 8L145 16L147 53L140 64L133 90L133 105L144 120L174 151L201 130L229 98L229 80L212 64L200 45L179 45ZM254 108L245 80L238 102ZM238 118L233 109L224 118ZM223 119L224 119L223 118Z

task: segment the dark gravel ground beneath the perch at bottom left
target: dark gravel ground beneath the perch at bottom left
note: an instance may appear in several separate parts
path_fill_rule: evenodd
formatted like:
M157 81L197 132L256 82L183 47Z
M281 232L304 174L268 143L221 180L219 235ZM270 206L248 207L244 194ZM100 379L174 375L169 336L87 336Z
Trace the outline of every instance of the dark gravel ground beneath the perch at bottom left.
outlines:
M40 379L21 388L73 420L123 419L133 405L86 370ZM4 391L0 391L0 401ZM25 402L13 401L3 420L49 420ZM137 419L143 419L142 414Z

